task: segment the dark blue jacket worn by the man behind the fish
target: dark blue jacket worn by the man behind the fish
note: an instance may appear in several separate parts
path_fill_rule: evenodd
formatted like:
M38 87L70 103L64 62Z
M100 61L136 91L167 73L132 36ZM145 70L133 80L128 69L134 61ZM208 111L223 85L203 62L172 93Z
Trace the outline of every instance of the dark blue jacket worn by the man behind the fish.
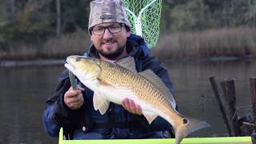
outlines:
M134 57L138 71L153 70L174 94L172 83L166 68L157 58L150 56L150 50L144 40L138 35L131 34L127 39L126 49ZM94 46L90 46L88 54L98 58ZM82 83L80 83L82 85ZM78 110L70 110L64 103L63 96L70 88L67 70L58 78L58 86L54 96L46 102L43 112L45 130L51 136L58 136L60 127L64 134L71 134L74 139L101 139L101 138L165 138L164 130L171 130L171 126L163 118L156 118L151 125L146 118L130 114L122 106L111 103L106 114L101 115L94 110L93 91L86 88L83 91L84 104Z

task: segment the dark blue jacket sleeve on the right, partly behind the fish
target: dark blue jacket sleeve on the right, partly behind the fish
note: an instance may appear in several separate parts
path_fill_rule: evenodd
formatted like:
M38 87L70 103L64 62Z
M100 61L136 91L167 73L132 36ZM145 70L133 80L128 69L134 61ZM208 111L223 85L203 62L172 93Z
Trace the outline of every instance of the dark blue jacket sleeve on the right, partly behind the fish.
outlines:
M166 84L167 88L170 90L170 93L174 96L174 86L170 81L168 71L166 70L165 66L163 66L163 63L160 62L157 58L148 57L142 62L142 70L147 69L154 71L154 74L157 74L158 77L162 79L162 82ZM154 119L154 122L150 125L150 129L171 130L171 126L170 123L165 119L158 117Z

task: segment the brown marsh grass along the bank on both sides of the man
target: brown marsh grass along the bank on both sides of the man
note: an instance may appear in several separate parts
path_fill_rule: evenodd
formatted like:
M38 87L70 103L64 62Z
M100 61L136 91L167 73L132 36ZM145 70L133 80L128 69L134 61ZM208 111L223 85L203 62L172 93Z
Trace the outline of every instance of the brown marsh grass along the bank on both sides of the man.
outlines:
M256 56L256 29L234 28L175 32L161 34L152 54L159 58L186 60L211 57ZM20 44L6 51L0 50L0 59L66 58L71 54L83 54L90 46L85 30L49 38L42 44Z

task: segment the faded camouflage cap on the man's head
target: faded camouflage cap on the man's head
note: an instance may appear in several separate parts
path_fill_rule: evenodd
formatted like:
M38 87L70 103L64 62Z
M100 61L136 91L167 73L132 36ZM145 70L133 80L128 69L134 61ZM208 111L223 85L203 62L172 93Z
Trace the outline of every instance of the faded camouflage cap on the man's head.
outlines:
M124 23L130 27L126 7L122 0L94 0L90 2L88 30L106 22Z

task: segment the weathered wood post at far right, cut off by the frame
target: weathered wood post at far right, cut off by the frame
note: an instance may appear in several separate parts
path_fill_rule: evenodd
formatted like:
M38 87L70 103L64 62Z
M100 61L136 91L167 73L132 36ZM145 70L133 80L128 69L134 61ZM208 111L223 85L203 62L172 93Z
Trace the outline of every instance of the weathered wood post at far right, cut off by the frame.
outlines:
M250 96L252 102L252 110L254 116L254 125L256 125L256 78L250 78ZM254 144L256 144L256 132L251 134L251 139Z

